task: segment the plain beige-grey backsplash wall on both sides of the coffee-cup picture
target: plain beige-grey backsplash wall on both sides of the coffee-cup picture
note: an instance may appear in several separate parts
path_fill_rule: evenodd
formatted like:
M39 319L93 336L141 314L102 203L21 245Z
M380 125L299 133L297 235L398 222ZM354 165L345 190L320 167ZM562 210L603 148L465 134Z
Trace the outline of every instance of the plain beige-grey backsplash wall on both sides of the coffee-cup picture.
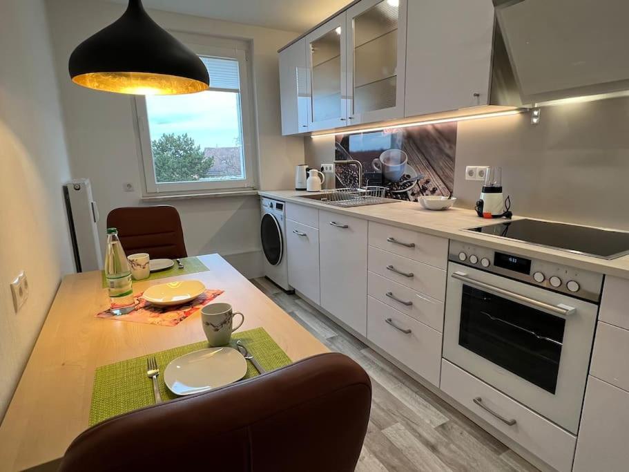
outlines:
M629 230L629 98L544 107L541 122L512 115L458 123L454 196L472 208L482 182L465 166L503 168L521 216ZM306 162L334 159L334 138L305 138Z

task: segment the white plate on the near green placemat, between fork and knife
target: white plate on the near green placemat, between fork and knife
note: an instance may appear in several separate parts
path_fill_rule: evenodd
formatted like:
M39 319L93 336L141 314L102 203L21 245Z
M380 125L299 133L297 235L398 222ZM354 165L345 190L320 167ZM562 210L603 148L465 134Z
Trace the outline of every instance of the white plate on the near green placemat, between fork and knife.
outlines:
M231 384L246 374L246 360L232 348L211 348L173 359L164 382L175 395L192 395Z

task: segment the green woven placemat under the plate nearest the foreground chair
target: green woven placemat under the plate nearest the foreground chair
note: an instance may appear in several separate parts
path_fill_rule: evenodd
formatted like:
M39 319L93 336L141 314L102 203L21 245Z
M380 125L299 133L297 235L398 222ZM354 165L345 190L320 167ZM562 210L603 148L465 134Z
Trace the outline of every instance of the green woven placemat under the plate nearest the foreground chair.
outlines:
M287 366L292 362L286 355L286 352L273 341L264 328L235 332L229 346L236 348L235 343L238 339L242 339L249 352L267 370ZM201 341L97 368L94 375L89 426L93 426L115 415L122 415L122 413L155 403L153 381L146 377L146 358L149 356L155 356L155 359L157 359L157 366L159 366L160 372L157 380L159 381L159 392L162 393L162 399L166 401L178 398L164 384L164 368L175 357L207 347L207 341ZM246 364L245 379L259 375L258 370L255 370L251 362L247 361Z

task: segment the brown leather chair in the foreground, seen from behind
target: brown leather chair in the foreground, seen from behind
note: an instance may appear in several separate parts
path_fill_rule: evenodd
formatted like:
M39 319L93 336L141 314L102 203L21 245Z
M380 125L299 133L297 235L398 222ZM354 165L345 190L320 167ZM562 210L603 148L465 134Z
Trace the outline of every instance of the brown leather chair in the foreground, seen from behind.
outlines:
M338 352L97 424L61 472L350 472L365 439L371 382Z

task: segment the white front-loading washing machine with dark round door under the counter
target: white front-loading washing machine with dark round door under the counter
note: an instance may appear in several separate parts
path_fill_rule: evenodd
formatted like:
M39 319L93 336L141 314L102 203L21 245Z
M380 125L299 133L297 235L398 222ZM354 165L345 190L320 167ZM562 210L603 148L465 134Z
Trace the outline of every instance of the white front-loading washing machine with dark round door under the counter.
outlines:
M278 200L262 197L262 220L260 221L260 239L264 252L264 275L287 292L293 290L289 285L289 266L286 254L286 204Z

